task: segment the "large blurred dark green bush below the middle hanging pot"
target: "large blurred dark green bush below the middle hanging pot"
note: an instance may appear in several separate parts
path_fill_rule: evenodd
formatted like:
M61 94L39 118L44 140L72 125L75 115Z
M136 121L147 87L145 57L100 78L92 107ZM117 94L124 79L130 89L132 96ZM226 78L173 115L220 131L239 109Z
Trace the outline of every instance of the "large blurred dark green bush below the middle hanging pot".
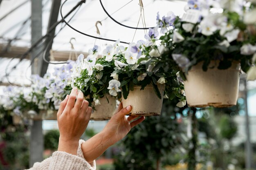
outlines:
M183 129L175 113L182 113L183 109L177 108L176 102L177 98L172 102L164 100L160 116L146 117L132 128L122 143L121 156L115 159L115 170L155 170L158 160L174 154L182 146Z

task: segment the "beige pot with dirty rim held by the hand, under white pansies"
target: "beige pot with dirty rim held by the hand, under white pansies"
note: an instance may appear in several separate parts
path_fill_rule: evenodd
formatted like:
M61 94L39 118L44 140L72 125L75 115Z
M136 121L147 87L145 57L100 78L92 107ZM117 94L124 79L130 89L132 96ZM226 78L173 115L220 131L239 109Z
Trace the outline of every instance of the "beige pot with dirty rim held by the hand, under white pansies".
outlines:
M152 116L161 114L165 86L164 84L157 86L161 99L155 94L152 84L147 85L144 90L141 90L141 86L135 86L134 90L129 92L127 99L124 99L122 94L123 106L132 106L130 115Z

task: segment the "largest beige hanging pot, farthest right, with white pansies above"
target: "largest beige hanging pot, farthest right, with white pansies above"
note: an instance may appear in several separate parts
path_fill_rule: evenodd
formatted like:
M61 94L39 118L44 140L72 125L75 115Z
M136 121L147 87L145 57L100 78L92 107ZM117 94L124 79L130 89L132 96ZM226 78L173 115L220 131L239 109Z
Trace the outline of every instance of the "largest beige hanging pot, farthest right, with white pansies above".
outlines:
M192 66L184 81L188 105L190 107L236 105L239 74L240 64L238 62L233 62L232 66L226 70L218 69L214 61L210 63L207 71L202 70L202 63Z

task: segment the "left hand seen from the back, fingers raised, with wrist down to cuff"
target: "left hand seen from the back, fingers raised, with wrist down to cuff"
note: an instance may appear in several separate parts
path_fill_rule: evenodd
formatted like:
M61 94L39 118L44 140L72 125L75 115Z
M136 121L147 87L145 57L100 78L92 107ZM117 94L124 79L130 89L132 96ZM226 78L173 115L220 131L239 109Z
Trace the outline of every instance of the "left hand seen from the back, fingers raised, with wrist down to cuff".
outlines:
M58 151L76 155L79 139L87 128L92 113L92 108L88 105L88 101L83 99L83 93L76 88L61 102L57 113L60 130Z

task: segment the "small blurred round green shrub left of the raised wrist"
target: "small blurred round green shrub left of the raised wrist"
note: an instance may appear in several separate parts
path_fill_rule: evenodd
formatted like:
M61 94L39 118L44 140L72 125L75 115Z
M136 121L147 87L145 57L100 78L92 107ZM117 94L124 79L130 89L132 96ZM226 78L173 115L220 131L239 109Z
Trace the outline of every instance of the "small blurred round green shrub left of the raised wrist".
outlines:
M44 136L45 149L57 150L60 137L59 130L49 130Z

